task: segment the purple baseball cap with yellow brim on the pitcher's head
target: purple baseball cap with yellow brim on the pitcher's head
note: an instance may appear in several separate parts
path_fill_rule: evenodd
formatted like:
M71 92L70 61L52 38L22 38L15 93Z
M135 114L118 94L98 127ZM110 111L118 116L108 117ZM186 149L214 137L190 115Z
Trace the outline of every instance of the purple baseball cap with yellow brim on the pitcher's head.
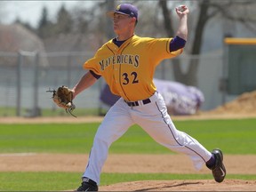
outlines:
M115 13L129 15L130 17L135 17L138 20L138 9L132 4L119 4L116 6L115 11L107 12L109 17L114 17Z

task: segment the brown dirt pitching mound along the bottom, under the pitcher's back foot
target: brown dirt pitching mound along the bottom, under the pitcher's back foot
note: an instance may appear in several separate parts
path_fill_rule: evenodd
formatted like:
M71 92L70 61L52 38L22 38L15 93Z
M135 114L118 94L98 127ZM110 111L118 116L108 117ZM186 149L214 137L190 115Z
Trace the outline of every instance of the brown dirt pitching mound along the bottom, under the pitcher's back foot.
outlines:
M255 191L255 180L144 180L100 187L100 191Z

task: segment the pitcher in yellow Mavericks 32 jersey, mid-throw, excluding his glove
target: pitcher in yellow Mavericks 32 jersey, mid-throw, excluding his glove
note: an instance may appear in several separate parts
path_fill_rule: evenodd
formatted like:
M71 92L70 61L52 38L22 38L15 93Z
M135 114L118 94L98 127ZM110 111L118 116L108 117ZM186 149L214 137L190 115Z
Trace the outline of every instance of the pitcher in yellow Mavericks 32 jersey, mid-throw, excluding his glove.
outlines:
M139 14L132 4L120 4L115 11L107 12L113 20L116 37L103 44L92 59L85 61L84 69L88 71L72 89L73 99L100 77L105 79L111 92L121 98L108 110L96 132L82 185L77 191L98 190L108 148L132 124L139 124L164 147L189 156L196 169L206 164L217 182L224 180L226 169L220 149L210 152L187 133L177 130L153 83L160 61L172 59L183 51L188 36L188 12L186 5L176 8L180 25L176 36L170 38L135 35Z

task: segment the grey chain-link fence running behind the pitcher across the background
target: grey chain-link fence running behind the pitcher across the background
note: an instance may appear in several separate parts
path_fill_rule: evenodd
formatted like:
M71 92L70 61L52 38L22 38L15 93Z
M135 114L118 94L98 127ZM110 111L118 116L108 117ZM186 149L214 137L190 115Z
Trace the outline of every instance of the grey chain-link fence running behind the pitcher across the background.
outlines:
M189 60L199 60L198 88L204 92L203 109L215 108L223 101L219 82L223 75L222 54L181 56L181 67ZM42 111L56 114L52 93L60 85L73 87L84 75L83 64L93 53L85 52L0 52L0 116L42 116ZM156 68L156 78L174 80L172 60ZM100 90L104 81L76 97L76 107L83 110L100 108ZM85 113L85 112L84 112Z

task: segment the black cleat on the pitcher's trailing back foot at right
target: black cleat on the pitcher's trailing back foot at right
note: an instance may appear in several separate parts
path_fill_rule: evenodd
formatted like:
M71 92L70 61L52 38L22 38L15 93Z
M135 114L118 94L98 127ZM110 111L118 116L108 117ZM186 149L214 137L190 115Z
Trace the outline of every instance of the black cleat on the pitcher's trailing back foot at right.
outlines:
M223 154L220 149L213 149L212 155L215 157L215 164L209 169L212 170L212 175L216 182L222 182L226 176L226 168L223 164Z

